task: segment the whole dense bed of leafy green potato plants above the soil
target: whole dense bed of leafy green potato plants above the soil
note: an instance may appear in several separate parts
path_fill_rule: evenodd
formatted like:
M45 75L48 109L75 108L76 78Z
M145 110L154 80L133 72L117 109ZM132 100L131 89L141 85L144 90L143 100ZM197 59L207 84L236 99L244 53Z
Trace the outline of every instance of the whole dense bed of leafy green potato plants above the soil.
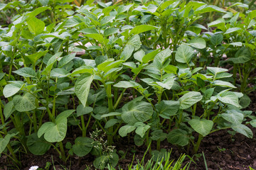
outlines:
M117 165L111 146L124 137L155 155L165 154L163 140L196 154L203 137L223 129L252 138L246 125L256 127L256 117L245 108L255 90L256 10L67 2L33 1L0 27L1 154L18 165L18 154L54 148L64 162L92 154L105 168ZM212 12L222 17L198 23ZM78 137L63 145L74 129Z

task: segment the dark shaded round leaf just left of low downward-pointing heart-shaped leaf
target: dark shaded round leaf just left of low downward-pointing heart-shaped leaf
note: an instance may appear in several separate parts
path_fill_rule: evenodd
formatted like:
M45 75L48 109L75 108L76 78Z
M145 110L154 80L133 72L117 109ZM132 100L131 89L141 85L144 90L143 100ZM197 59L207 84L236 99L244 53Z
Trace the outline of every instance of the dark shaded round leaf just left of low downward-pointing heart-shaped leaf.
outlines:
M181 129L171 130L171 132L169 132L169 134L167 135L167 140L172 145L179 145L181 147L184 147L188 145L188 132Z

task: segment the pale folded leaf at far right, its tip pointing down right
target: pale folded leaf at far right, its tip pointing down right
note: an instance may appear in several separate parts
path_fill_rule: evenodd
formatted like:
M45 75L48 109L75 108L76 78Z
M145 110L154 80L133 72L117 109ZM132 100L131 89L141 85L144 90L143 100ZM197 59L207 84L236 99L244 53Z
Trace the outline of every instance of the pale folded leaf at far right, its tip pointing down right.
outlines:
M220 91L220 93L217 95L217 98L225 104L230 104L235 107L240 108L240 104L238 102L238 96L235 95L232 91Z

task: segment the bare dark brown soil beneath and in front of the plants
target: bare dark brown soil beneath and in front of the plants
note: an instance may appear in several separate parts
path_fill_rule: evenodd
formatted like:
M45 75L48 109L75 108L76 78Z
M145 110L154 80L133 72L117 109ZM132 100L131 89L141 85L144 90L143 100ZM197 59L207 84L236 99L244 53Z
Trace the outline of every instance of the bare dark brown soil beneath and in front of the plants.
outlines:
M256 92L253 92L249 95L252 99L249 109L255 113L256 111ZM198 154L204 154L206 157L206 163L208 169L249 169L249 166L253 169L256 169L256 129L249 126L252 129L254 134L253 139L249 139L244 135L235 134L234 136L228 133L228 130L221 130L206 136L201 142L201 147L198 151ZM80 135L80 130L73 130L68 132L68 137L65 138L63 142L74 143L76 135ZM122 150L125 154L125 157L119 160L119 168L117 169L127 169L127 166L132 163L137 164L137 160L142 160L144 156L144 151L146 147L137 147L134 145L134 140L128 139L127 137L120 138L115 144L117 151ZM156 148L156 144L152 144L152 149ZM171 159L178 159L184 151L181 148L178 148L174 145L169 144L167 141L161 142L161 148L172 149ZM66 150L68 152L68 150ZM192 157L192 155L191 155ZM59 158L58 153L54 149L50 149L43 156L35 156L33 154L21 154L21 164L24 170L28 170L31 166L39 166L44 168L46 163L49 162L52 166L50 169L53 169L53 164L55 169L67 169L71 170L84 170L87 167L94 169L92 162L95 159L94 156L88 154L85 157L79 158L76 156L70 157L68 162L65 164ZM121 155L119 155L121 158ZM146 159L150 159L150 155L146 155ZM191 163L190 169L206 169L205 161L203 156L193 157L196 164ZM190 159L186 159L186 163L190 162ZM11 166L11 160L6 157L6 155L1 155L0 159L0 170L6 169L17 169L14 166Z

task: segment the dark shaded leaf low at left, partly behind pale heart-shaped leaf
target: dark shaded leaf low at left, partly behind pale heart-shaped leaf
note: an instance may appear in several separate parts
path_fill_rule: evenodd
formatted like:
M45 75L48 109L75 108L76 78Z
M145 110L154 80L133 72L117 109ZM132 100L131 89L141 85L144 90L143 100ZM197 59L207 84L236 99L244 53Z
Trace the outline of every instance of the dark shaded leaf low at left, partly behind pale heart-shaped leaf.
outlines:
M28 136L26 145L28 146L28 150L35 155L46 154L51 146L48 144L48 142L46 142L46 140L43 139L43 137L38 138L36 132Z

